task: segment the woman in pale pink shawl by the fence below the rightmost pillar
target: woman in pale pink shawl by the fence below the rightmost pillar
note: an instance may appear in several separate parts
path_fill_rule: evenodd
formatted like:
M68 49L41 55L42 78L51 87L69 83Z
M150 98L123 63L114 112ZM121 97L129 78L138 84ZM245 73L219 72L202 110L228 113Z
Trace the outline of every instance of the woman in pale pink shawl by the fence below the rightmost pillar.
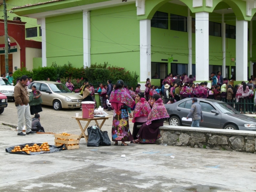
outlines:
M236 102L239 103L239 109L241 113L245 113L245 109L248 109L248 96L249 96L249 87L246 82L242 81L236 92Z

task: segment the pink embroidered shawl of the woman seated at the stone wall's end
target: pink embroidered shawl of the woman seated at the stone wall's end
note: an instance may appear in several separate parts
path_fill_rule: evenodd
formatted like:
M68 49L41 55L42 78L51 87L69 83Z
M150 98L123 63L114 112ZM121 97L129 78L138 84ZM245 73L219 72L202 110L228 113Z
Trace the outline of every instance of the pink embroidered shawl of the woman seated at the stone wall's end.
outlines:
M148 120L146 122L146 125L150 125L152 121L157 119L163 119L163 118L169 118L166 108L163 104L163 100L161 98L157 99L156 102L154 102L153 107L151 109L151 112L148 115Z

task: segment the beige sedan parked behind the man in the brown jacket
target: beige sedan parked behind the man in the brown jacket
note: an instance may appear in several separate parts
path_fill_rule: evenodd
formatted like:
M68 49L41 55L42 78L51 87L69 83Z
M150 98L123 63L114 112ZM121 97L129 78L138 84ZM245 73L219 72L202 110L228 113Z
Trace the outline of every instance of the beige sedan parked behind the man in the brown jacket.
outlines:
M55 81L34 81L28 86L30 95L32 85L42 93L42 105L53 106L58 111L62 108L81 108L82 96L71 92L64 84Z

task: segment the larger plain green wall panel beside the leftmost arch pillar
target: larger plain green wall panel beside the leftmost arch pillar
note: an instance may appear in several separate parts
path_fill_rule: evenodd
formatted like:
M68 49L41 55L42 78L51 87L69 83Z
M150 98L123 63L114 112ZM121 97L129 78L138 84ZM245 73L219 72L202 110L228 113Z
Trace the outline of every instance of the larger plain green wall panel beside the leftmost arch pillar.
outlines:
M108 62L140 75L140 23L135 4L90 12L91 63Z

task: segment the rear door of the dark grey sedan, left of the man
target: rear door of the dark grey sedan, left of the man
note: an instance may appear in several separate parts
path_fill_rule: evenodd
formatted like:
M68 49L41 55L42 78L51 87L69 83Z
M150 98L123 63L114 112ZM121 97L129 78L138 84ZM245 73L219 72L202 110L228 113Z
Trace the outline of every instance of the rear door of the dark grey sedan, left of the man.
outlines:
M188 116L191 106L192 106L191 99L186 100L177 106L177 113L180 116L180 119ZM181 123L182 123L182 125L190 126L192 124L192 121L182 121L181 120Z

